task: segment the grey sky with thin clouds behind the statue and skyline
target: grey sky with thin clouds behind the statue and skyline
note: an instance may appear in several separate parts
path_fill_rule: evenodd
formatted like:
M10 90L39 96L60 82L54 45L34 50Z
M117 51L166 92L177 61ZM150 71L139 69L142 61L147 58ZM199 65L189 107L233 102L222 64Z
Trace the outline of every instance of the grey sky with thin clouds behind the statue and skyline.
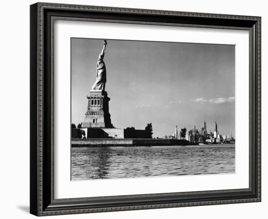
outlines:
M235 134L235 45L107 39L105 90L115 128L153 137L175 126ZM71 38L72 123L83 122L103 39Z

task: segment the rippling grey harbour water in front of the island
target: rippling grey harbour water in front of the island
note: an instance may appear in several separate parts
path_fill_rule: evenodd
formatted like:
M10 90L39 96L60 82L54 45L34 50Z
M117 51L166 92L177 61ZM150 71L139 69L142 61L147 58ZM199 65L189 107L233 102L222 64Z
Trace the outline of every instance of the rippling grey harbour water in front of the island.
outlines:
M234 171L234 145L72 147L72 180Z

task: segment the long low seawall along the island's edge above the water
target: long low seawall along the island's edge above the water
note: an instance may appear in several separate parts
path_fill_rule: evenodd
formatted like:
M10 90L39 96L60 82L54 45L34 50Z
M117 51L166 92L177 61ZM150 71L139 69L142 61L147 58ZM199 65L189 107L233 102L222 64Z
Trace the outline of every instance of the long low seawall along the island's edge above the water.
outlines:
M187 140L179 139L72 139L72 147L94 146L186 146Z

